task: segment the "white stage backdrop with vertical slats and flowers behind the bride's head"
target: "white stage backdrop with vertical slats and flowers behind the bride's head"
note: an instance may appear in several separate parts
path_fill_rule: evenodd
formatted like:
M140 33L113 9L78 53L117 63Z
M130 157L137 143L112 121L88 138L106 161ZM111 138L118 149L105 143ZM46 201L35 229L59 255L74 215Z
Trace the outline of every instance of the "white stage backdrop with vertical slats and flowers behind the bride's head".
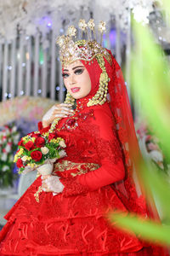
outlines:
M130 96L131 13L134 19L150 23L159 43L167 44L170 36L160 8L153 0L116 0L114 4L111 0L8 0L0 3L0 100L24 95L62 102L65 88L55 39L65 33L68 26L76 25L77 20L90 18L94 18L96 24L99 20L106 21L103 45L112 50L120 65L125 65Z

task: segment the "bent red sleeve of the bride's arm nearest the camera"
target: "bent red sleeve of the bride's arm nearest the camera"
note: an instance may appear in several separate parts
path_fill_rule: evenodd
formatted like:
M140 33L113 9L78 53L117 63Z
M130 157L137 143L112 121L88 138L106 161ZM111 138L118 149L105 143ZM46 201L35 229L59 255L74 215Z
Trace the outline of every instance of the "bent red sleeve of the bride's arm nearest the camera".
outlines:
M113 130L113 120L105 111L97 111L93 121L91 136L94 137L96 154L99 159L99 169L88 172L66 181L65 196L93 191L105 185L115 183L124 178L125 170L122 160L122 150ZM68 192L68 193L67 193Z

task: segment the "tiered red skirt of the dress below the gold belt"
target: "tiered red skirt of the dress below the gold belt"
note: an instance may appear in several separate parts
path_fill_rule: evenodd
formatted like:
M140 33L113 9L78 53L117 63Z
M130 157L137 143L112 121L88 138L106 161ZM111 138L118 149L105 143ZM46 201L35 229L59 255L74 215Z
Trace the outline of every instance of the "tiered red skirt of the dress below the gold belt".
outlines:
M112 209L126 211L110 186L70 197L42 192L37 202L40 185L38 177L4 217L8 222L0 232L1 256L164 255L104 218Z

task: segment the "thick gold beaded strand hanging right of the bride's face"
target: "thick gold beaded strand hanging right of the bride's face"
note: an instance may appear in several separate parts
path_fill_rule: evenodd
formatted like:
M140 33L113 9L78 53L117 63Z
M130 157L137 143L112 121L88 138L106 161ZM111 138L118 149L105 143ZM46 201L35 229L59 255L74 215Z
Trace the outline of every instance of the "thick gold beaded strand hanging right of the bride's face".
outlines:
M102 55L96 55L96 59L99 63L99 67L102 70L102 73L100 74L99 78L99 90L94 95L92 99L89 100L87 106L91 107L94 105L102 105L106 101L107 91L108 91L108 83L110 81L110 78L108 74L106 73L105 69L105 61Z

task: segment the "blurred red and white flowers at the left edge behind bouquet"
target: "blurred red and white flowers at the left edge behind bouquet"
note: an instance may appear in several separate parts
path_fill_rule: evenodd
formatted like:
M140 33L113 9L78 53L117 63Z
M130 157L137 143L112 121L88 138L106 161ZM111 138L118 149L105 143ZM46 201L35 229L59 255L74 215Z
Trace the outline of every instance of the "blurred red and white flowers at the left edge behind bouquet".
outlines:
M14 151L20 139L20 133L14 124L4 125L0 131L0 187L13 184Z

